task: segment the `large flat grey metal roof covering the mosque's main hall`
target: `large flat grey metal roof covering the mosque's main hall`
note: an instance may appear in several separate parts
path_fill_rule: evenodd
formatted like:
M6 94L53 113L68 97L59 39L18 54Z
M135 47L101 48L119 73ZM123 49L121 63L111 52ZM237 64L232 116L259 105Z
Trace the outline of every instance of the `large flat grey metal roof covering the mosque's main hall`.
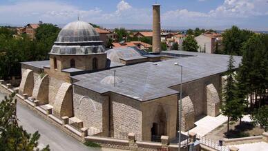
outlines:
M112 70L80 74L72 77L78 80L74 85L101 94L115 92L139 101L149 101L179 93L170 89L171 86L180 84L180 68L174 66L175 62L183 66L183 83L227 71L227 61L229 61L227 55L182 51L168 51L166 53L192 55L193 57L182 57L157 63L139 63ZM241 57L235 56L234 59L236 61L234 65L238 68ZM118 83L116 87L101 83L102 79L113 75L113 70L116 70L117 77L122 79L122 82Z

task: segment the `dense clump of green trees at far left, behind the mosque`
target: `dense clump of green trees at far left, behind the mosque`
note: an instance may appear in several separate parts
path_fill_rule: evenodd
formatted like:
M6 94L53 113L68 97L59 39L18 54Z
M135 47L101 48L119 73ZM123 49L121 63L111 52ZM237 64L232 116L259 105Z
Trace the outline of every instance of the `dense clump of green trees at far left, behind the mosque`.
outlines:
M36 39L30 39L27 34L12 37L10 28L0 28L0 78L10 79L20 76L20 62L48 59L59 28L49 23L43 23L36 30Z

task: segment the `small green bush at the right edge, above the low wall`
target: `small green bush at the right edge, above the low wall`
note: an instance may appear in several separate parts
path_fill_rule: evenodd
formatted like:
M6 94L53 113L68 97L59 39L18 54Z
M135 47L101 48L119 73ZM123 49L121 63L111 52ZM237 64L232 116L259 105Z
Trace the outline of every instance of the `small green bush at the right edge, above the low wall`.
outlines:
M268 105L262 106L258 110L254 110L251 115L253 123L260 125L261 128L268 132Z

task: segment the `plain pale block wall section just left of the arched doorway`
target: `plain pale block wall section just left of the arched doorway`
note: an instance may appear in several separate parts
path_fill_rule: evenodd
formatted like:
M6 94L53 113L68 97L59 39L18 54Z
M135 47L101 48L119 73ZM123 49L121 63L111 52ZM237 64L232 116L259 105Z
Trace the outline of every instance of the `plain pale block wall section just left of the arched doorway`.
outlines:
M142 132L142 109L140 102L112 93L111 100L111 131L114 137L126 137L128 132L140 136ZM137 137L139 140L140 137Z

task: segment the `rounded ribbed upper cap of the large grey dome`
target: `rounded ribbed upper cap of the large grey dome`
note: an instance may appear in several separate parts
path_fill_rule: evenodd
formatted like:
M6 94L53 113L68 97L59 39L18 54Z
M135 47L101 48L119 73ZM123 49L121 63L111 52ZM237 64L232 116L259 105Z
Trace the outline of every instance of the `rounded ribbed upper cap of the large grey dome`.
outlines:
M74 21L72 23L68 23L61 29L56 43L86 41L99 41L99 34L89 23L84 21Z

